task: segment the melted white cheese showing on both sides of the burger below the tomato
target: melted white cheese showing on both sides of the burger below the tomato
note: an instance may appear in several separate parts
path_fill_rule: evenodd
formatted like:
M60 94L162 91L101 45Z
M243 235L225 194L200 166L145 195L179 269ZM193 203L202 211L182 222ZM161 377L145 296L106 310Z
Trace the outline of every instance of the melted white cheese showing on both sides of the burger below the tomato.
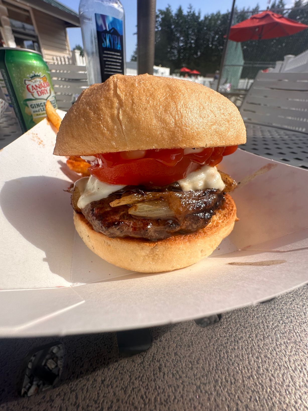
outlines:
M178 180L183 191L205 190L214 188L223 191L225 185L216 167L203 166L197 171L188 174L186 178ZM80 178L75 182L78 187L80 197L77 203L79 208L85 208L92 201L106 199L110 194L125 187L125 185L107 184L99 181L93 175Z

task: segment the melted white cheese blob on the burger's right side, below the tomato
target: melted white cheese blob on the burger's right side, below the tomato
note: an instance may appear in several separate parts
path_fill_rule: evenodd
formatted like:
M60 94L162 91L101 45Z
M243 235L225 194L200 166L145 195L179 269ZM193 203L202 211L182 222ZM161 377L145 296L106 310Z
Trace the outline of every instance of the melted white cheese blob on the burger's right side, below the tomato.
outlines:
M223 191L225 184L216 167L202 166L199 170L189 173L186 178L178 180L183 191L205 190L214 188Z

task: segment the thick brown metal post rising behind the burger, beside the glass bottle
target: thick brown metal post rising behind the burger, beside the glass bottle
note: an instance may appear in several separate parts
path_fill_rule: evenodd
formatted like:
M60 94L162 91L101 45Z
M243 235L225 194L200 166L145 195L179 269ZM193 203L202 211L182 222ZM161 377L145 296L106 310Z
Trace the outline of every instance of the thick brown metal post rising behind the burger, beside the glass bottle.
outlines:
M156 0L137 0L138 74L153 74Z

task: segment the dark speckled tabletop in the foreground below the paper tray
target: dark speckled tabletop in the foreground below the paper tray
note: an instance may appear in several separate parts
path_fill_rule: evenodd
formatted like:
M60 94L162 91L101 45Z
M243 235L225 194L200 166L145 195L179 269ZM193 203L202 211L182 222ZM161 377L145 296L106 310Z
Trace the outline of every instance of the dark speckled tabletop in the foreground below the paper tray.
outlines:
M2 339L0 410L308 410L308 286L269 302L156 327L152 346L120 356L115 333ZM60 339L59 385L21 398L27 352Z

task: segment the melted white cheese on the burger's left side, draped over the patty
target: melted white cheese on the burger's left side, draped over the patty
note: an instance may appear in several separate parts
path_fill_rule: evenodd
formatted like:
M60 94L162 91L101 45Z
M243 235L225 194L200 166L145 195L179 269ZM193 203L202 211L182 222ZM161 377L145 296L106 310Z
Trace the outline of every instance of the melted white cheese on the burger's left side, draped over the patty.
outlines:
M75 186L78 187L81 194L77 203L78 208L85 208L92 201L106 199L113 192L125 187L125 185L107 184L106 182L99 181L93 175L89 178L80 178L75 182Z

